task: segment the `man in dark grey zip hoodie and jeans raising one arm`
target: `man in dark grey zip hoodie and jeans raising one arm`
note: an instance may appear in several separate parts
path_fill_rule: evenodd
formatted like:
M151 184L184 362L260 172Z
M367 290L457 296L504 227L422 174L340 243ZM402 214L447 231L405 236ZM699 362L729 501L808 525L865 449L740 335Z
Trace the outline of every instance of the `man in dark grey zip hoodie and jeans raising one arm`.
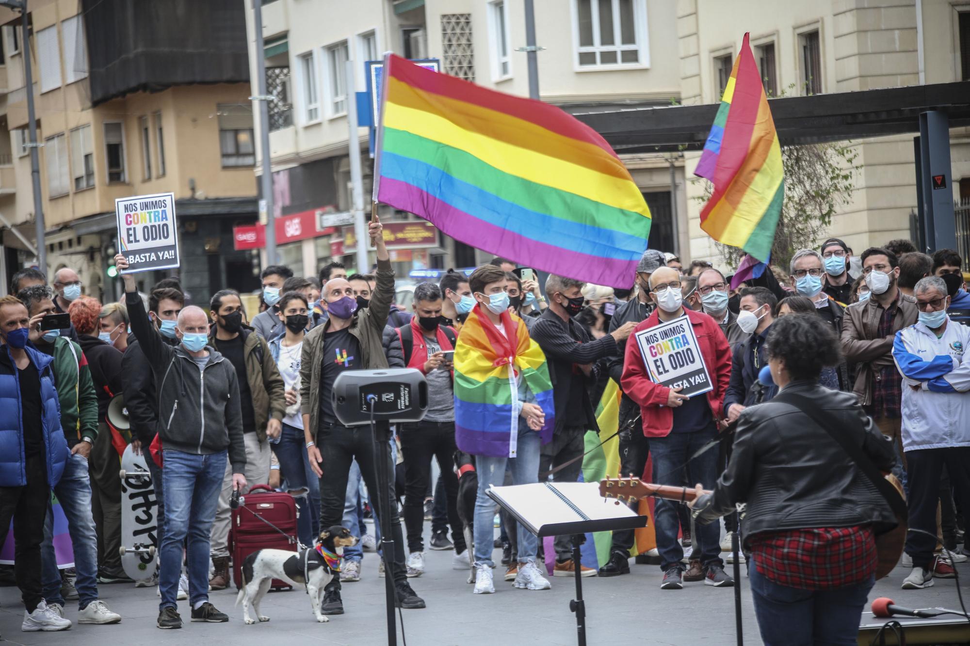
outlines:
M114 262L119 272L128 269L123 254L116 255ZM232 465L233 488L246 485L236 369L207 345L209 319L200 307L185 307L179 312L176 335L180 342L171 346L148 320L134 276L122 277L132 331L158 384L165 534L157 626L181 628L176 596L186 537L192 621L227 622L229 617L209 602L209 554L212 521L227 462Z

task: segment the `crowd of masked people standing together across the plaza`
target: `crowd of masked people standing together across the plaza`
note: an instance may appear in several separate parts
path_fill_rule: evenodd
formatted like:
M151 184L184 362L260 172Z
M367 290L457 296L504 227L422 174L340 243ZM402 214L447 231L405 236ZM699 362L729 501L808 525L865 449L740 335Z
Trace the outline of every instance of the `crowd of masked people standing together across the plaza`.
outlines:
M701 581L733 586L722 554L739 533L739 559L754 565L766 641L792 620L793 606L785 606L791 590L810 591L817 610L825 603L860 610L874 580L873 528L891 514L850 463L840 474L845 491L820 498L820 483L836 479L830 465L845 456L837 445L798 438L810 419L784 422L800 414L791 404L799 394L864 427L860 445L900 479L910 527L921 531L909 533L904 563L912 570L903 588L952 578L954 562L967 559L957 546L970 515L970 294L953 250L928 256L892 241L856 256L830 239L795 252L787 268L769 267L732 286L733 276L709 263L684 267L671 253L647 249L630 290L560 275L540 288L532 270L495 258L470 275L451 271L416 285L404 311L394 303L379 222L370 233L372 274L348 275L339 263L308 278L267 267L258 313L245 311L231 289L205 307L187 305L174 277L145 296L135 275L122 274L123 299L103 305L82 295L69 268L50 283L37 270L16 273L0 298L0 399L9 404L0 410L0 545L13 520L23 630L70 628L65 606L73 598L79 623L117 623L121 617L98 594L99 585L117 583L157 585L161 629L181 627L179 599L188 600L193 621L228 621L209 592L232 584L230 499L266 482L296 499L304 545L335 525L361 538L344 550L324 614L343 612L342 584L364 576L363 552L380 541L379 524L371 535L365 516L383 513L391 516L395 547L386 575L400 607L425 607L409 580L426 569L428 519L427 547L453 550L456 568L473 567L474 594L496 591L500 548L501 580L549 589L547 577L576 574L568 537L556 538L547 569L536 537L510 517L495 538L496 505L485 491L538 482L540 474L575 482L611 379L622 392L621 472L714 491L695 504L694 533L686 505L656 501L657 548L649 556L661 567L663 590ZM127 269L123 255L115 262ZM43 325L65 312L67 325ZM631 338L678 318L693 329L713 386L693 397L664 386ZM475 391L455 370L455 356L513 387L490 400L483 394L493 391ZM520 370L526 365L532 368ZM392 508L383 509L371 432L343 427L330 393L342 371L388 367L421 371L429 406L421 422L396 428L390 448L398 478L389 486ZM118 556L118 442L107 421L118 394L135 452L160 446L161 465L146 459L158 501L159 568L138 582ZM472 403L476 397L485 401ZM768 425L774 430L765 435ZM714 443L717 450L702 450ZM471 545L458 514L457 451L471 456L478 476ZM806 460L815 460L811 468ZM778 500L776 490L791 489L778 484L786 479L813 493ZM58 571L54 556L51 491L69 524L70 575ZM747 516L733 513L741 502L748 502ZM715 522L722 516L724 539ZM581 566L579 574L629 574L633 534L613 533L608 561L598 570ZM838 554L857 558L843 559L837 575L808 577L792 565ZM385 575L383 563L379 572ZM811 613L808 607L799 612ZM848 621L844 612L830 614Z

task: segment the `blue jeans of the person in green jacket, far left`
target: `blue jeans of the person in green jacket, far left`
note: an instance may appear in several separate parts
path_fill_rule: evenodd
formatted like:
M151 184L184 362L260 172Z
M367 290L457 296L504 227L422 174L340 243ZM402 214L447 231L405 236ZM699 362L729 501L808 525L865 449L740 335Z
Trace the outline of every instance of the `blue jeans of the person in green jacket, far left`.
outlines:
M98 598L98 534L91 515L91 481L87 476L87 460L77 453L68 457L64 475L54 487L54 495L67 516L68 532L74 546L74 566L78 570L74 585L78 589L79 607L83 609ZM48 504L44 542L41 543L41 583L48 603L63 606L60 571L54 556L53 527L54 514Z

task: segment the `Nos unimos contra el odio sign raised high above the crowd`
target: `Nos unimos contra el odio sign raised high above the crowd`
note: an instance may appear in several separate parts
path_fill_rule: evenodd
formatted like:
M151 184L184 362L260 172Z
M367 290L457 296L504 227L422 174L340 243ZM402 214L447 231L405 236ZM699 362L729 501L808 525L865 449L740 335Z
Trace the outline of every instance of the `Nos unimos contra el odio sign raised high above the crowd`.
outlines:
M118 245L128 259L122 274L178 267L176 198L172 193L114 201Z

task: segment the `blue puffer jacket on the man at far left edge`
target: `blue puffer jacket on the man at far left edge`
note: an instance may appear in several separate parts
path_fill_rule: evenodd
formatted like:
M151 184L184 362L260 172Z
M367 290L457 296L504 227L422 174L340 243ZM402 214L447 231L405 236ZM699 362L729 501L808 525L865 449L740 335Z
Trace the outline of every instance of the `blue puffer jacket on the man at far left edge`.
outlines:
M48 484L60 482L70 451L60 426L60 403L54 388L53 357L25 348L41 377L41 409L44 447L47 450ZM20 428L20 383L16 364L7 345L0 347L0 487L27 484L24 469L23 429Z

